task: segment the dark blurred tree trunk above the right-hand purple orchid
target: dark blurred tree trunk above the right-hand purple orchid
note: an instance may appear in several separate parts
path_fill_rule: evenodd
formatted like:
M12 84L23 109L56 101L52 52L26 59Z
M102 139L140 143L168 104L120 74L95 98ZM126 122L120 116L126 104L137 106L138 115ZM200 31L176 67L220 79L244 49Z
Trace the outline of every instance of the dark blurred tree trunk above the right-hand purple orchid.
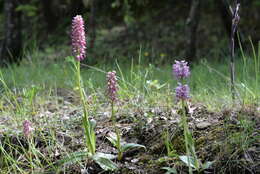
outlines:
M187 48L186 60L191 62L196 59L197 29L200 20L200 0L192 0L189 17L186 21Z

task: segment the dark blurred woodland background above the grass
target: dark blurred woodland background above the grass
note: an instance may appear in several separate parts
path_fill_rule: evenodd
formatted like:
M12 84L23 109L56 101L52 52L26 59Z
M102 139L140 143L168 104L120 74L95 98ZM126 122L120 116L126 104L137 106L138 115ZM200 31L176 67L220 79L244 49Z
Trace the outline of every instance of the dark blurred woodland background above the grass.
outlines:
M250 50L248 38L260 40L260 1L240 3L238 35ZM229 55L233 5L232 0L1 0L0 62L19 62L33 46L70 54L70 24L77 14L86 22L90 64L138 59L140 50L154 64L177 58L221 61Z

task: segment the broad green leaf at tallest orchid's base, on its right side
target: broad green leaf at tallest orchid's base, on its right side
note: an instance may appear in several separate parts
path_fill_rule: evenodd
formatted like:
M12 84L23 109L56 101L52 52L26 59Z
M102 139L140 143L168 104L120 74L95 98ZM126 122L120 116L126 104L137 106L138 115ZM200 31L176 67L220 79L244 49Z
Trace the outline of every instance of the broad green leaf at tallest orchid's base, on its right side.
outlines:
M105 171L114 171L117 169L117 165L113 161L111 161L109 158L102 157L102 155L94 155L92 156L92 159Z

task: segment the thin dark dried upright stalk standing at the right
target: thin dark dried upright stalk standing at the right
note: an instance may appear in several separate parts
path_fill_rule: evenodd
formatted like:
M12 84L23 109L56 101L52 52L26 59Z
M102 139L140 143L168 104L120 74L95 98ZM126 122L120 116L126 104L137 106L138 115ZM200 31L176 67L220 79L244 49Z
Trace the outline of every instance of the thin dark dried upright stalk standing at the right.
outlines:
M230 79L231 79L231 93L232 93L232 100L234 103L235 100L235 85L234 85L234 81L235 81L235 63L234 63L234 59L235 59L235 33L237 31L237 26L238 26L238 22L239 22L239 15L238 15L238 11L239 11L239 7L240 7L240 3L238 1L236 1L236 7L233 10L232 8L230 8L231 13L232 13L232 27L231 27L231 43L230 43L230 48L231 48L231 58L230 58Z

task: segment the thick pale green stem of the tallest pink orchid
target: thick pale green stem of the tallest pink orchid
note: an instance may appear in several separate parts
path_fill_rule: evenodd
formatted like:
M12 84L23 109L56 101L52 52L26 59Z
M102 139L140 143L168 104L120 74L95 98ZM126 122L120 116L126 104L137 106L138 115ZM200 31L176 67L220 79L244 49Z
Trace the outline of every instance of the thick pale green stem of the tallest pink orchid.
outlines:
M88 109L87 109L87 104L86 104L85 92L84 92L83 84L81 82L80 61L77 61L76 69L77 69L78 90L79 90L79 93L80 93L81 103L83 105L83 126L84 126L84 129L85 129L86 144L87 144L87 147L89 148L91 155L94 155L95 151L96 151L95 142L94 142L95 140L93 140L91 138L93 130L90 126L90 122L89 122L89 118L88 118L88 112L87 112Z

